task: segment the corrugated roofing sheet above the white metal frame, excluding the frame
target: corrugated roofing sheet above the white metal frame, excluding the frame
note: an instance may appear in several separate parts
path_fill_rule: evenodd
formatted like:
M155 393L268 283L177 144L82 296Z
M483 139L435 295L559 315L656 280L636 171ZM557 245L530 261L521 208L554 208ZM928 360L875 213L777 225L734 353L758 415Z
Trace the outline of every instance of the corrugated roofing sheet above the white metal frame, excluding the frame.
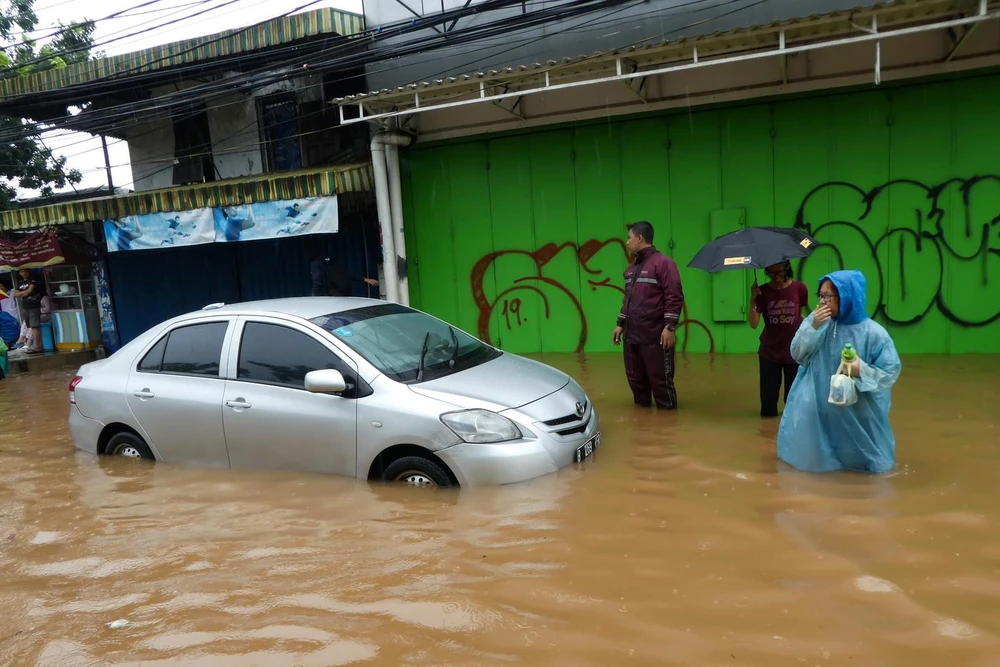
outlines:
M554 83L590 72L606 72L609 67L615 66L615 61L619 58L627 58L640 66L659 64L672 59L690 60L692 49L696 45L700 57L774 46L778 41L779 31L785 32L785 42L789 46L836 34L851 32L858 34L861 32L859 25L865 27L870 25L870 16L875 12L878 12L879 27L886 28L935 16L954 16L964 9L977 8L978 0L882 0L849 9L775 20L766 24L752 24L705 34L694 32L673 40L633 44L589 55L421 81L341 97L333 102L341 106L358 103L391 106L394 101L401 98L412 100L414 94L419 94L421 102L425 102L438 96L454 96L456 89L459 88L478 89L481 83L496 86L521 80L537 81L546 75Z

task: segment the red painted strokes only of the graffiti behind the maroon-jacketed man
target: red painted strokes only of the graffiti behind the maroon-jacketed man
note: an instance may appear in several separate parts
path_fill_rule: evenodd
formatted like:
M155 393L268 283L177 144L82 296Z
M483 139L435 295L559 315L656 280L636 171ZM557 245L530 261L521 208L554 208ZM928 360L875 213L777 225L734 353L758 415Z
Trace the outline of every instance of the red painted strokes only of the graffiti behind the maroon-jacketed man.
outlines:
M591 259L593 259L593 257L597 253L599 253L601 250L603 250L605 247L611 244L617 244L621 248L623 254L626 257L629 257L628 250L625 247L625 243L620 238L610 238L605 241L591 239L590 241L584 243L582 246L577 246L575 243L571 241L562 244L547 243L546 245L542 246L541 248L539 248L534 252L529 252L527 250L498 250L496 252L492 252L481 257L479 261L477 261L475 265L472 267L472 275L470 276L470 282L472 284L472 298L473 300L475 300L476 307L479 309L479 321L478 321L479 338L486 342L492 343L492 341L490 340L490 314L492 313L494 306L497 303L499 303L500 299L503 298L504 295L514 291L515 289L518 289L518 287L530 289L538 293L538 295L542 297L542 303L545 306L545 317L548 318L551 313L551 308L549 306L549 300L545 296L544 292L542 292L542 290L540 290L537 287L524 284L529 281L538 281L546 285L551 285L552 287L561 290L564 294L566 294L566 296L569 297L570 302L576 308L577 314L580 317L581 331L580 331L580 340L577 342L575 352L577 353L583 352L583 348L586 345L587 335L589 331L587 326L586 314L583 312L583 305L580 303L580 299L577 297L576 294L573 293L572 290L570 290L568 287L560 283L558 280L543 276L542 270L545 267L545 265L548 264L560 252L562 252L566 248L573 248L577 260L580 262L581 269L585 273L589 273L591 275L599 274L600 273L599 270L589 267L587 263ZM536 275L533 276L528 275L515 279L514 287L509 287L505 289L503 292L500 292L499 294L497 294L496 299L493 301L493 303L490 303L490 300L486 297L486 291L485 288L483 287L483 281L486 277L487 271L489 270L493 262L499 259L500 257L504 257L506 255L525 255L527 257L530 257L531 260L535 263L535 270L537 273ZM624 295L625 288L619 285L613 285L611 281L612 278L610 277L596 281L588 279L587 284L589 284L591 290L595 292L600 287L606 287L614 289L620 292L622 295ZM687 304L684 305L684 308L682 310L681 320L680 322L677 323L677 328L680 329L679 333L682 334L681 337L683 338L683 342L681 344L681 352L685 352L687 350L688 329L691 326L701 327L701 329L708 336L709 353L715 354L715 339L712 336L712 332L703 322L700 322L698 320L688 319Z

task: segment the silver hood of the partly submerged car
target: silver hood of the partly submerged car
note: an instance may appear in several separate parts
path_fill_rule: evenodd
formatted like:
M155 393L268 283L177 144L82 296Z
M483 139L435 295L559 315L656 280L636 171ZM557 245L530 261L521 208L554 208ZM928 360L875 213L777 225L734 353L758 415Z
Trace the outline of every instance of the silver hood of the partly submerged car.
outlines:
M410 390L461 408L500 411L537 401L568 383L562 371L505 352L485 364L410 385Z

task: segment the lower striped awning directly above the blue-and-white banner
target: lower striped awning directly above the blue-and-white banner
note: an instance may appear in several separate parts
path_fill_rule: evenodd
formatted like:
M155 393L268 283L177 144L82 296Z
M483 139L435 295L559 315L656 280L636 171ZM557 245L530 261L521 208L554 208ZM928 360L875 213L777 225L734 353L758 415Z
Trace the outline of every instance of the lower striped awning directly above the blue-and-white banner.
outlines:
M261 174L215 183L134 192L120 197L99 197L0 211L0 230L37 229L100 222L127 215L366 192L372 190L373 179L371 164Z

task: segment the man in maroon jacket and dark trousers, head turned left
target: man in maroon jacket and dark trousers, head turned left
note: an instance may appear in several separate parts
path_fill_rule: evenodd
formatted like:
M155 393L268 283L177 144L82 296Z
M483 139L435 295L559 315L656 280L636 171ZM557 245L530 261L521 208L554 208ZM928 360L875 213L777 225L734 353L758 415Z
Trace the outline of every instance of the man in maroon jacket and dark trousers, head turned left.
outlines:
M677 408L674 347L684 306L681 276L674 260L653 247L653 225L629 225L628 250L635 257L625 269L625 300L612 340L625 343L625 377L638 405Z

